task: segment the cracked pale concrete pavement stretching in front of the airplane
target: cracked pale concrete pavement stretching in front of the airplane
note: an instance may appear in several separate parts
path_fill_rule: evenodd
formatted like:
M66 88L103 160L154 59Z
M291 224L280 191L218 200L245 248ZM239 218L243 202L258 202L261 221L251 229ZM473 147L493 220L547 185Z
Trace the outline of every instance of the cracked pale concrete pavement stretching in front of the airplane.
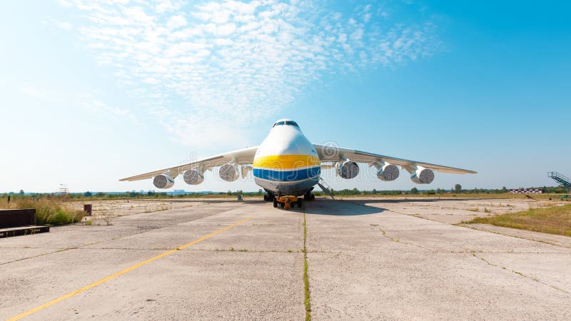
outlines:
M0 319L303 320L305 215L313 320L571 320L567 239L452 225L478 201L213 200L5 238Z

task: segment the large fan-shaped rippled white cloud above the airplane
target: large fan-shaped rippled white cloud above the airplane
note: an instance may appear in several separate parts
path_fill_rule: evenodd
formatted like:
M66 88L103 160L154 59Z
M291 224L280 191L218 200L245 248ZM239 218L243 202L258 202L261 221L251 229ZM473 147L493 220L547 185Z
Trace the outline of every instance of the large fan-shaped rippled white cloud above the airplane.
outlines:
M225 126L244 138L233 123L289 106L325 73L414 61L438 44L433 24L389 21L376 4L341 14L313 1L61 1L84 18L78 30L96 61L195 146Z

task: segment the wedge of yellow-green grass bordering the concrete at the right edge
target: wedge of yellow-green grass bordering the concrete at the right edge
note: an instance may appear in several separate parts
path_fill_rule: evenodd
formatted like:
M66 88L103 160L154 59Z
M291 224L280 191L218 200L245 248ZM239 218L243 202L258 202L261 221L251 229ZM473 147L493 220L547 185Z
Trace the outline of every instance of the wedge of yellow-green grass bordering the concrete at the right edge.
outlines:
M571 236L571 205L533 208L523 212L507 213L486 218L477 217L464 223L484 223L504 228L518 228L520 230Z

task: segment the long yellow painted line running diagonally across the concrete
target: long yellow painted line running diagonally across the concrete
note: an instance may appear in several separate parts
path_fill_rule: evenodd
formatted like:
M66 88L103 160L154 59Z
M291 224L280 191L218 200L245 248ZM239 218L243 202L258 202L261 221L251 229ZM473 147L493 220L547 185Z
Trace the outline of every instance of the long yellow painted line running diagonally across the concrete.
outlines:
M109 275L108 277L105 277L105 278L103 278L103 279L101 279L101 280L98 280L97 282L91 283L90 285L87 285L86 287L81 287L81 289L75 290L74 292L69 292L69 293L66 294L66 295L63 295L63 296L61 296L61 297L58 297L57 299L51 300L50 302L44 303L43 305L40 305L39 307L34 307L34 309L31 309L31 310L28 310L28 311L26 311L26 312L24 312L24 313L21 313L21 314L19 314L19 315L16 315L15 317L12 317L11 319L8 319L8 321L20 320L20 319L23 318L23 317L27 317L27 316L29 316L29 315L32 315L32 314L34 314L34 313L36 313L36 312L38 312L38 311L40 311L40 310L44 310L46 307L50 307L51 305L55 305L55 304L58 303L58 302L61 302L61 301L66 300L66 299L69 299L70 297L73 297L74 295L78 295L78 294L81 293L81 292L85 292L85 291L91 289L92 287L96 287L97 285L101 285L102 283L107 282L108 280L113 280L114 278L116 278L116 277L118 277L118 276L121 276L121 275L125 274L126 272L131 272L132 270L135 270L135 269L138 268L138 267L141 267L141 266L143 266L143 265L146 265L146 264L148 264L148 263L151 263L151 262L153 262L153 261L155 261L155 260L158 260L158 259L160 259L160 258L164 258L164 257L166 257L166 255L171 255L171 254L173 254L173 253L178 252L179 250L183 250L183 249L185 249L185 248L188 248L188 247L191 246L191 245L195 245L195 244L198 243L198 242L201 242L201 241L203 241L203 240L206 240L207 238L212 238L212 237L213 237L214 235L216 235L216 234L222 233L222 232L224 232L225 230L229 230L229 229L231 229L231 228L233 228L233 227L235 227L235 226L237 226L237 225L240 225L240 224L242 224L242 223L246 223L248 220L251 220L251 219L252 219L252 218L246 218L246 219L244 219L244 220L241 220L241 221L238 222L238 223L234 223L234 224L232 224L232 225L228 225L228 226L226 226L226 228L221 228L220 230L217 230L216 232L213 232L213 233L210 233L210 234L208 234L208 235L206 235L206 236L203 236L202 238L199 238L198 240L193 240L191 243L186 243L185 245L179 246L178 248L176 248L176 249L174 249L174 250L170 250L170 251L167 251L167 252L165 252L165 253L161 253L161 254L156 255L155 257L150 258L150 259L148 259L148 260L145 260L145 261L143 261L143 262L141 262L141 263L138 263L138 264L133 265L133 266L131 266L131 267L127 267L125 270L121 270L121 271L119 271L119 272L116 272L116 273L113 274L113 275Z

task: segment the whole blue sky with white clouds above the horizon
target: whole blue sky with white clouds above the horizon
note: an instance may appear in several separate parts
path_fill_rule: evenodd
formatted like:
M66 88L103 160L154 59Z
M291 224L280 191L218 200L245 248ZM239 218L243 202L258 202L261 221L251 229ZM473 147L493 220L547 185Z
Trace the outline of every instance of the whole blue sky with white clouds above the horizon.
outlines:
M256 146L282 117L314 143L479 172L422 188L571 176L566 1L0 7L0 192L153 189L117 180ZM336 189L410 189L405 174L325 177ZM211 173L175 188L258 189Z

